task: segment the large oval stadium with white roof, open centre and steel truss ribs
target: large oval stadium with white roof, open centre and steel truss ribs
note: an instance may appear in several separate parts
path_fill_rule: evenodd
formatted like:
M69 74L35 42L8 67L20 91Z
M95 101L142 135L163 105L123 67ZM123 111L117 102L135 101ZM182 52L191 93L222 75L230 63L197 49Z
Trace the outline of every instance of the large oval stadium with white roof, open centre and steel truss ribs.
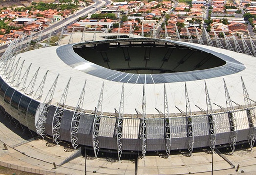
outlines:
M0 105L23 128L95 157L233 153L254 146L255 67L242 53L155 38L45 47L1 61Z

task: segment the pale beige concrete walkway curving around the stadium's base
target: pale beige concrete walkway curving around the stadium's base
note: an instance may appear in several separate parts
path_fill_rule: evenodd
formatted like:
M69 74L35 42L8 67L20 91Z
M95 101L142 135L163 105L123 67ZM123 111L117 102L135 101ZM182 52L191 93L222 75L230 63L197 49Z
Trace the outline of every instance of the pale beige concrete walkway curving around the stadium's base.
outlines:
M12 126L12 127L11 127ZM11 128L11 129L9 129ZM34 140L20 146L14 147L18 143L25 141L28 136L22 134L20 127L15 128L8 123L7 118L0 117L0 163L12 165L12 168L22 170L32 169L34 172L48 172L56 175L84 175L85 160L78 157L62 166L54 169L53 162L57 165L73 151L67 147L55 145L46 140ZM21 136L24 138L21 138ZM5 150L3 143L8 147ZM213 174L228 175L256 174L256 147L252 152L246 150L235 151L234 155L225 155L234 165L232 168L218 154L213 154ZM87 174L108 174L108 175L133 175L135 174L135 164L128 160L120 162L108 162L105 158L87 160ZM236 172L237 165L240 165ZM15 167L14 167L15 165ZM160 156L147 156L140 159L138 164L139 175L155 174L197 174L209 175L211 173L212 155L207 152L193 153L191 157L183 154L171 155L169 158ZM93 173L95 171L95 173Z

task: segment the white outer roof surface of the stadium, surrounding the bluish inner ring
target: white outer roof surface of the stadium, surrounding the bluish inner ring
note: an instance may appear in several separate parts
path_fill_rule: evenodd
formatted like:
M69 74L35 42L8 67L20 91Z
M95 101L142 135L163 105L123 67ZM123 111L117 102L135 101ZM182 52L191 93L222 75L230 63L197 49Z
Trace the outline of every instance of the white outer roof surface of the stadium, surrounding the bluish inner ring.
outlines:
M204 81L206 81L211 101L220 106L226 107L223 78L225 79L232 101L236 102L237 104L244 105L241 76L244 80L244 83L246 85L250 98L252 100L256 100L256 88L255 88L256 87L256 74L255 74L256 59L255 57L248 56L242 53L236 53L233 51L219 49L215 47L209 47L205 45L183 43L183 42L176 42L176 43L185 44L187 46L196 46L201 49L210 49L212 51L230 56L246 66L245 70L242 70L241 72L234 73L231 75L186 82L191 111L199 111L199 109L195 105L206 110L206 96L205 96ZM53 104L60 102L61 96L63 94L64 88L67 85L69 77L72 77L71 83L69 86L68 95L67 95L67 101L65 105L68 105L71 108L76 107L84 82L85 80L87 80L86 89L85 89L85 101L83 105L84 109L92 110L92 111L95 109L98 103L103 82L104 82L104 92L103 92L102 111L113 113L114 108L119 109L122 83L104 80L102 78L92 76L90 74L87 74L85 72L82 72L80 70L77 70L68 66L58 57L56 53L56 49L59 47L62 47L62 46L54 46L54 47L47 47L47 48L32 50L29 52L20 53L19 55L16 56L16 59L21 57L18 68L20 67L22 61L25 60L22 73L21 73L21 78L25 73L25 71L28 69L30 63L32 64L30 68L30 73L28 75L27 84L32 79L38 67L40 67L34 90L37 89L37 87L39 86L39 84L41 83L44 77L44 74L46 73L47 70L49 70L41 101L42 102L44 101L55 78L57 77L58 74L60 74L58 78L56 90L54 93L54 99L52 102ZM72 47L72 45L70 45L70 47ZM85 66L88 66L87 69L91 68L89 65L85 65ZM15 82L12 83L12 86L13 85L15 85ZM183 111L186 111L184 82L166 83L166 88L167 88L166 90L168 95L169 112L179 113L179 111L175 108L175 106L177 106ZM155 108L164 112L164 84L163 83L146 84L145 91L146 91L147 115L150 114L154 116L154 114L158 114ZM134 110L135 108L141 112L142 94L143 94L143 84L125 83L124 85L124 113L125 114L136 114ZM213 106L213 109L219 109L219 107L217 107L216 105L212 104L212 106Z

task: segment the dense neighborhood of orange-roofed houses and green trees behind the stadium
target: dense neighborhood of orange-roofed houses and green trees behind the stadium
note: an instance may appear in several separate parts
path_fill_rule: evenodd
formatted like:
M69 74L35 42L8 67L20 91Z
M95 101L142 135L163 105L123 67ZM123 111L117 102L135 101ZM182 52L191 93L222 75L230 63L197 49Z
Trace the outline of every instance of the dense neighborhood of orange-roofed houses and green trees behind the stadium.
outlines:
M1 7L0 43L21 35L30 35L67 20L77 9L83 9L84 1L55 0L54 3L35 3L27 7ZM93 6L94 7L94 6ZM251 35L248 29L256 24L256 2L227 0L172 1L123 1L114 0L109 6L97 9L97 13L79 17L76 23L66 26L67 32L96 31L133 33L144 37L192 38L204 29L213 36L230 34Z

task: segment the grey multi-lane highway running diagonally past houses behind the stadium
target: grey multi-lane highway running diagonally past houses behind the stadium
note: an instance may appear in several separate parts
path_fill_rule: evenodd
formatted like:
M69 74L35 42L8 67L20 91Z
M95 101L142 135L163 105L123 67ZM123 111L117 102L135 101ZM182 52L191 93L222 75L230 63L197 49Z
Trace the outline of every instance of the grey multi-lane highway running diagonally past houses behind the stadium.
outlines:
M77 22L79 17L85 17L89 13L95 13L97 11L97 9L100 9L102 6L104 6L104 5L106 6L106 5L109 5L112 3L110 0L93 0L93 1L94 1L94 4L75 12L75 14L69 16L67 19L61 20L55 24L52 24L48 28L43 29L41 40L48 38L48 35L50 34L51 31L53 33L59 33L59 32L61 32L63 26L73 24L73 23ZM92 6L95 6L95 8ZM39 35L40 32L41 31L34 33L34 35ZM27 40L27 39L28 38L25 38L25 40ZM6 50L7 47L8 46L6 44L3 46L0 46L0 57L2 56L2 54L4 53L4 51Z

